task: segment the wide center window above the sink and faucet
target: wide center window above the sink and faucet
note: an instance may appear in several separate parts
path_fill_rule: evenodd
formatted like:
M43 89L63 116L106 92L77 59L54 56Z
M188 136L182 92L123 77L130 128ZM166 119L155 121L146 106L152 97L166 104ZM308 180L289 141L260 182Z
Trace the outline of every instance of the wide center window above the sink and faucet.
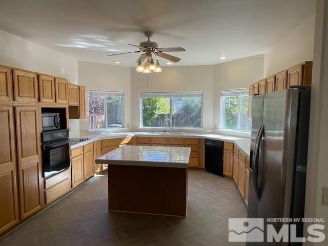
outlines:
M140 126L175 128L202 126L202 92L140 93Z

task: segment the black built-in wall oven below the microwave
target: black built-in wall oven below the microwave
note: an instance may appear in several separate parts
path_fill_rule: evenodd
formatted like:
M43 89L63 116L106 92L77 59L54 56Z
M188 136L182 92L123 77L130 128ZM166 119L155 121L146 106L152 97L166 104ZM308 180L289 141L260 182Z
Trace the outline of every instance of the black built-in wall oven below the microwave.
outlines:
M49 178L70 167L70 146L68 129L42 133L43 172Z

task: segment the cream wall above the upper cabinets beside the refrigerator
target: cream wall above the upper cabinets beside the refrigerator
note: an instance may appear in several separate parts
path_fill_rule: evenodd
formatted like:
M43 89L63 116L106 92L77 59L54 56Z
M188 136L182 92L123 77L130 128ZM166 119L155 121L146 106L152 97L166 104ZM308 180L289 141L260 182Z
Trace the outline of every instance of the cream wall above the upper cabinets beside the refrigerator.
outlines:
M264 55L264 77L313 60L315 16L312 15L292 32L281 37Z

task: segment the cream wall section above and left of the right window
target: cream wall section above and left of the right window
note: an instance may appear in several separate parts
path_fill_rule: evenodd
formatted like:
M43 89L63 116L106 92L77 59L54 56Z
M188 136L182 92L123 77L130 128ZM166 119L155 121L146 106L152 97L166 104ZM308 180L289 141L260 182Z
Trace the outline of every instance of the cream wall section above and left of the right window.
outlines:
M263 78L263 67L263 54L214 66L214 128L220 128L220 90L248 88Z

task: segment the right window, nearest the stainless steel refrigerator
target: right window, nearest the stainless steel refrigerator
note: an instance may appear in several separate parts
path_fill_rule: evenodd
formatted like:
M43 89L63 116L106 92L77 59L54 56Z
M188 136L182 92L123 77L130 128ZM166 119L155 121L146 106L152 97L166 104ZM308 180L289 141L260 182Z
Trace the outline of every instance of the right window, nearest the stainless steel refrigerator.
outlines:
M250 132L248 89L221 91L221 129Z

